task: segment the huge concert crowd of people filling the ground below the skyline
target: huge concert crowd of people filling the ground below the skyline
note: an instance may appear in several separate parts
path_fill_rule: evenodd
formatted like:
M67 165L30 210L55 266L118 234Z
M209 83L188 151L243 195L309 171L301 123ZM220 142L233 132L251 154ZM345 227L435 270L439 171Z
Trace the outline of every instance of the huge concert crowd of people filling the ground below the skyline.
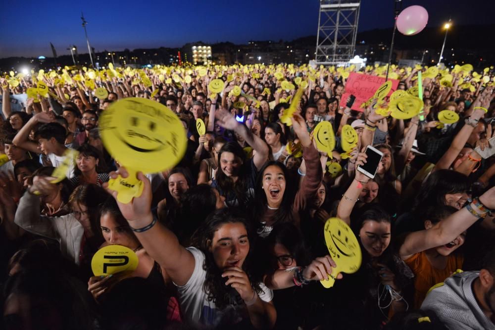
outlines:
M349 72L385 70L156 65L0 78L3 329L495 329L495 158L480 155L495 147L493 69L443 69L418 93L426 68L392 66L398 90L422 95L410 119L379 111L388 97L365 111L343 105ZM14 109L16 94L27 101ZM122 203L108 181L129 173L99 117L126 97L173 111L187 147L174 168L138 172L143 192ZM442 110L460 119L442 123ZM331 152L313 137L320 121L333 128ZM347 154L345 125L358 137ZM356 170L367 146L383 153L374 178ZM65 179L53 180L72 149ZM339 263L323 233L331 217L350 226L362 262L327 289L319 282ZM94 254L113 244L133 250L137 268L95 276Z

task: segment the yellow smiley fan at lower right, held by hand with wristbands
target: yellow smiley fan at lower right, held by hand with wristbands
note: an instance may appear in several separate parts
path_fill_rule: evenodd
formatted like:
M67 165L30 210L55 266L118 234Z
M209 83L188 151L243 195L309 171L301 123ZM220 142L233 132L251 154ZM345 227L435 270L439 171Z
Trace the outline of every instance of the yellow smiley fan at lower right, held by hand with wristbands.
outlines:
M339 218L330 218L324 226L325 243L330 257L337 267L332 268L328 280L320 281L326 287L332 287L339 273L352 274L361 267L361 247L356 236L347 224Z

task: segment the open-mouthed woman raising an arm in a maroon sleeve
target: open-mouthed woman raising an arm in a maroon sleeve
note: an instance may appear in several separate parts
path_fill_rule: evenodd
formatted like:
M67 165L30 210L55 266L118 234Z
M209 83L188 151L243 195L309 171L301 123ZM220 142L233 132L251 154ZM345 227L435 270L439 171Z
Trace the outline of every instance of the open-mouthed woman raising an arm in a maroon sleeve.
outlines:
M304 119L295 114L292 123L303 147L307 173L294 195L293 181L288 181L285 165L270 161L260 170L254 186L253 219L259 222L257 232L261 237L268 236L278 222L291 222L299 227L299 211L309 206L310 198L320 187L322 169L319 154L309 138Z

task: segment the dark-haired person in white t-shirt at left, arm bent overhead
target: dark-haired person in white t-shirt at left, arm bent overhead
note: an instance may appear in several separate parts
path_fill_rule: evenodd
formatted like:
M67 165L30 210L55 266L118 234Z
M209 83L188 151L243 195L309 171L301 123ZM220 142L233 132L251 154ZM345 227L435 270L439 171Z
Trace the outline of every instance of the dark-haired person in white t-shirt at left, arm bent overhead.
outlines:
M67 132L62 125L52 121L53 119L48 113L37 113L20 129L13 139L13 143L28 151L36 153L41 151L47 155L51 165L57 167L65 160L64 153L68 149L64 144ZM38 143L29 141L29 133L38 123L44 123L35 132ZM71 160L66 172L68 179L74 176L74 167L74 161Z

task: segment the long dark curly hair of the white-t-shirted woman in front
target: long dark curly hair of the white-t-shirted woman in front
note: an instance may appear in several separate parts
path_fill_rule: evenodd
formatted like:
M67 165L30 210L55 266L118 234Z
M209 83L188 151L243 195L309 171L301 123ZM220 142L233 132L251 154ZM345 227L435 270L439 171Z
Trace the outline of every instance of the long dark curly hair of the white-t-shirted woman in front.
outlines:
M254 244L255 236L249 226L249 222L245 214L235 208L223 208L211 213L205 222L201 224L192 238L193 246L197 247L204 253L203 269L206 271L203 289L207 294L207 300L213 301L219 309L224 309L232 304L232 289L225 285L226 279L222 278L222 269L219 269L213 259L213 254L210 252L211 243L215 232L224 224L241 223L247 231L249 240L249 252L246 260L243 263L242 269L246 273L251 286L256 293L261 293L259 287L260 278L255 275L253 267L253 258L251 253Z

